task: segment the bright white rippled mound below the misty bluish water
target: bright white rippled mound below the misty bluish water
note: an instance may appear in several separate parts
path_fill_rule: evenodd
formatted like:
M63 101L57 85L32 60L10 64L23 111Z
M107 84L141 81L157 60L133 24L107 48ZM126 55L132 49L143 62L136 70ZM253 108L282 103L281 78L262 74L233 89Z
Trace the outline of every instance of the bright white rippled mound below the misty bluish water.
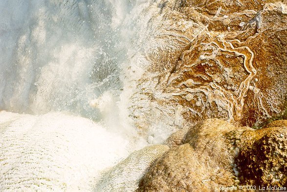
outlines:
M92 191L94 178L127 149L122 137L82 117L1 111L0 191Z

